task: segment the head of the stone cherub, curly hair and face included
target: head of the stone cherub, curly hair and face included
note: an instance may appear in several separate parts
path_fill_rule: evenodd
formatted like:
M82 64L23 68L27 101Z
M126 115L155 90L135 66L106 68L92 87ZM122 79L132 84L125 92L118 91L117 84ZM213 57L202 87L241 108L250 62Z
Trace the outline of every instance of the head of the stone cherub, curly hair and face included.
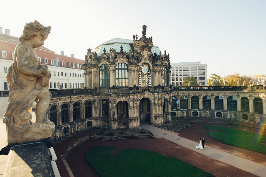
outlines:
M45 27L37 22L37 20L26 23L19 41L23 42L27 40L32 44L33 48L39 48L44 45L44 40L47 39L51 29L51 26Z

